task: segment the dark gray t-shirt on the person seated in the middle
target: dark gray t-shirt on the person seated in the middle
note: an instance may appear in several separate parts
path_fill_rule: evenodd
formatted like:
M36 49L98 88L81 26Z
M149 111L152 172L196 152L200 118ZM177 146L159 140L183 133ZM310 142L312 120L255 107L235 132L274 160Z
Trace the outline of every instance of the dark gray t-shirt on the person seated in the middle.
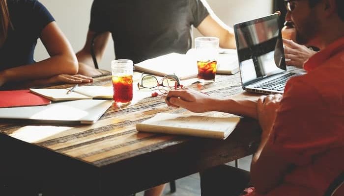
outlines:
M110 31L116 59L139 63L191 48L191 25L209 15L201 0L94 0L89 29Z

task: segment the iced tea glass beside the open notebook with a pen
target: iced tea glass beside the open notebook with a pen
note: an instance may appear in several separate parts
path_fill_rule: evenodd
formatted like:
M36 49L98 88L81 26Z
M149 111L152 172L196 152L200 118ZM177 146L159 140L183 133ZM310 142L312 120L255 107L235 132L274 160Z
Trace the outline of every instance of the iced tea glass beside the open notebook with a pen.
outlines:
M133 99L133 61L118 59L111 62L114 100L118 104Z

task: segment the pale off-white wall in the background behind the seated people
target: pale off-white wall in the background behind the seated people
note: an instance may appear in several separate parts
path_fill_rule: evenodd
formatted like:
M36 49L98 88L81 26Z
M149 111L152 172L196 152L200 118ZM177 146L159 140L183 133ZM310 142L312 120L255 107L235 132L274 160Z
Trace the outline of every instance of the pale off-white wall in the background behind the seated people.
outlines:
M89 24L93 0L40 0L55 17L71 43L74 51L83 48ZM272 12L272 0L207 0L215 14L227 25L246 21ZM194 31L197 37L200 34ZM35 50L35 60L49 57L39 41ZM110 70L110 62L115 58L113 42L110 40L104 58L99 63L101 69Z

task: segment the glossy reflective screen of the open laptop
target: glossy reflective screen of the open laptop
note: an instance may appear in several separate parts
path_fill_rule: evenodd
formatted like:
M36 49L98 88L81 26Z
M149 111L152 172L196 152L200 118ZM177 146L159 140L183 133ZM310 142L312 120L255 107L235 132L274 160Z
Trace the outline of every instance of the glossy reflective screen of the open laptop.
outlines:
M243 86L286 71L279 15L234 25Z

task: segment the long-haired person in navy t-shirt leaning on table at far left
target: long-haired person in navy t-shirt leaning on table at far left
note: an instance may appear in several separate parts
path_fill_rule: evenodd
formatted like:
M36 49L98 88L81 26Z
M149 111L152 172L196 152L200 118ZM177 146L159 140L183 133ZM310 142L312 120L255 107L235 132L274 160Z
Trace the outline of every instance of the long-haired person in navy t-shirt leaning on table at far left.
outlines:
M50 58L35 62L33 52L40 38ZM57 82L90 82L73 75L78 61L53 16L37 0L0 0L0 87ZM14 86L15 87L15 86Z

